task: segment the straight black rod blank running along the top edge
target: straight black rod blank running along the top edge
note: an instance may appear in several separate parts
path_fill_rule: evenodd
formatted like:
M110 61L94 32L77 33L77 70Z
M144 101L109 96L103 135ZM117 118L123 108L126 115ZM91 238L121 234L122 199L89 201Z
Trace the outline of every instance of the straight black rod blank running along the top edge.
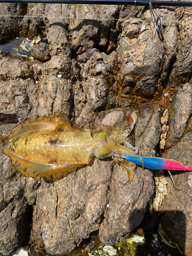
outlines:
M192 2L150 0L0 0L0 3L50 3L92 5L135 5L135 6L192 6Z

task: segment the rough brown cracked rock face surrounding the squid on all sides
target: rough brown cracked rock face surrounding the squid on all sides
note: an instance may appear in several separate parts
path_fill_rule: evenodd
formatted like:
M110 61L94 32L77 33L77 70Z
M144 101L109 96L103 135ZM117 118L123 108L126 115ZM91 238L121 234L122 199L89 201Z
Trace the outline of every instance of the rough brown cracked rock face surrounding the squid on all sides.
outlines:
M78 129L109 130L139 110L131 143L142 156L158 154L192 166L190 8L159 9L164 26L157 33L144 7L1 7L1 15L26 16L1 16L0 42L19 35L47 38L33 47L34 59L0 51L1 148L4 136L27 119L58 113ZM76 61L93 48L92 56ZM154 194L153 170L137 167L133 182L123 187L127 173L112 159L93 159L67 177L26 178L2 152L0 166L3 255L22 246L30 255L63 254L94 230L103 243L124 241L142 222ZM159 214L169 237L189 256L191 174L172 174L176 188L167 177L168 196Z

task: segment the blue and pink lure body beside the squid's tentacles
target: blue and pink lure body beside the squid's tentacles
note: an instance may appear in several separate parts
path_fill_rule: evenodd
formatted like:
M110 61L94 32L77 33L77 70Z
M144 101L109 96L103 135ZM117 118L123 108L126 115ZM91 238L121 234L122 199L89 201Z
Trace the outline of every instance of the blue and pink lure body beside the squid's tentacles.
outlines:
M138 157L126 156L127 161L142 165ZM168 160L160 157L142 157L144 167L153 170L187 170L192 171L190 166L185 166L177 161Z

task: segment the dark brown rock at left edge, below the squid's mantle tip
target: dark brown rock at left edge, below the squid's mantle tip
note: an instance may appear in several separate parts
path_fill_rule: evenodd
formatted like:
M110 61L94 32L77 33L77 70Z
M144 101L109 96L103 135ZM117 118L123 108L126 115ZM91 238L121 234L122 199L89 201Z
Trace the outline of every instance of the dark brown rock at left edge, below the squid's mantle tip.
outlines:
M13 124L0 126L2 135L8 134ZM0 142L2 150L2 143ZM12 166L8 156L1 154L0 177L0 253L10 255L26 239L29 223L29 204L36 198L38 180L26 179Z

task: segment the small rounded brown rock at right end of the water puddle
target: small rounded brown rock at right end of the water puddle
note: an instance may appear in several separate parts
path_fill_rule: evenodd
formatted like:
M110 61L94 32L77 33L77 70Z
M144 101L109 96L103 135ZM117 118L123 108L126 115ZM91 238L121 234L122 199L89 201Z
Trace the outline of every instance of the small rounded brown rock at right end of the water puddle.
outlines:
M31 55L40 61L50 60L49 44L46 38L42 38L37 44L31 47Z

